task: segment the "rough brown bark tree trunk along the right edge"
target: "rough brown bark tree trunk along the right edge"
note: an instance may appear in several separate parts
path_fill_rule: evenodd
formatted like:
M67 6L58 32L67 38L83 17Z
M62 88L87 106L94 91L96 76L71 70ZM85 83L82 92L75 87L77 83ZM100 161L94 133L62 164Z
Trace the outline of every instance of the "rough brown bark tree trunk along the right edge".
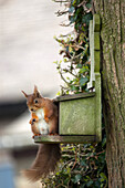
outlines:
M101 15L108 187L125 188L125 0L95 0Z

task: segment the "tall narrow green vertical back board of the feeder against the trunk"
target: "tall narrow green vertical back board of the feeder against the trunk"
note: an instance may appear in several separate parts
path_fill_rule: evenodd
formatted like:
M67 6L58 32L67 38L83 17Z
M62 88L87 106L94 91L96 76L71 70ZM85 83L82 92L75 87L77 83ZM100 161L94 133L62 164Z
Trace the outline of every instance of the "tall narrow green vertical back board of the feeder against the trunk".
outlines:
M102 101L101 101L101 74L100 74L100 29L101 20L98 14L93 17L93 32L94 32L94 64L95 64L95 113L96 113L96 142L102 140Z

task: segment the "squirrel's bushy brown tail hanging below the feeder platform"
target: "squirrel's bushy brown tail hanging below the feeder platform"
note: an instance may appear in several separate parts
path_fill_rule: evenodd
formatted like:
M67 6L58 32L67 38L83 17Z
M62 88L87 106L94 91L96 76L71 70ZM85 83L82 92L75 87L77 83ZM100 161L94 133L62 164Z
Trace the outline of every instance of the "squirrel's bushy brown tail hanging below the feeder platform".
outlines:
M60 158L60 144L41 144L31 169L23 170L22 174L29 180L37 181L41 177L46 177L51 171L54 171Z

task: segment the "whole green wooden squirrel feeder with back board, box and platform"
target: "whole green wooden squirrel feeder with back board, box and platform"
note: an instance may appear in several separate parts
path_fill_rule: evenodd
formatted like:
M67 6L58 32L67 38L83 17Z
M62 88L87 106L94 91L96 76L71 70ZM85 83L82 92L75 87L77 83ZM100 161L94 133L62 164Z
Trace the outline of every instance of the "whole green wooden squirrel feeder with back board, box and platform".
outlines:
M93 143L102 139L100 17L90 21L91 75L88 93L64 95L59 103L59 135L42 135L35 143Z

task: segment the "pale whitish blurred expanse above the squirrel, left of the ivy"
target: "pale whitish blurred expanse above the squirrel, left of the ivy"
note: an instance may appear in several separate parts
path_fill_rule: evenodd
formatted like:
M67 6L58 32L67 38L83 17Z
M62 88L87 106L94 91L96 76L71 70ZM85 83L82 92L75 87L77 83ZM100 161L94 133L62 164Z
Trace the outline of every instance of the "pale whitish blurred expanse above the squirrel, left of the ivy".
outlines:
M54 97L60 75L53 61L60 59L54 35L67 33L59 24L52 0L7 0L0 3L0 102L22 100L21 90ZM65 18L63 18L65 20Z

